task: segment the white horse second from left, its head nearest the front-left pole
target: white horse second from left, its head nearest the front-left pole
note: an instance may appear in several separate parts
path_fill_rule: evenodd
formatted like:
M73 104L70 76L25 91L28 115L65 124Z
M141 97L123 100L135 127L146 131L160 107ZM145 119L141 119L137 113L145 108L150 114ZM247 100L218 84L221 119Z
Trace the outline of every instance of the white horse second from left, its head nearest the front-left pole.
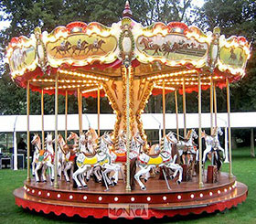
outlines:
M46 138L46 151L41 153L38 156L38 160L37 160L37 166L35 169L35 176L36 176L36 181L39 182L39 176L37 174L37 171L43 167L42 170L42 178L43 178L43 182L47 181L47 178L45 176L45 171L46 168L49 167L49 173L50 173L50 178L51 181L54 180L54 150L53 150L53 146L52 146L52 134L48 133L47 138Z

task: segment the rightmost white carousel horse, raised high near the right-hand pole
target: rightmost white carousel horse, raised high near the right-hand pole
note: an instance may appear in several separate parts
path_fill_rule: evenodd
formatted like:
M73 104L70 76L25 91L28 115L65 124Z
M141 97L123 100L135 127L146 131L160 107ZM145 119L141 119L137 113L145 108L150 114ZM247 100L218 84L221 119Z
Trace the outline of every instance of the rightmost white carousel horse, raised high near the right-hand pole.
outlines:
M222 135L223 132L220 127L216 127L213 130L212 136L208 135L205 131L202 132L202 138L205 138L206 150L203 154L203 163L207 160L207 155L211 151L222 151L223 157L225 158L225 150L219 144L219 135Z

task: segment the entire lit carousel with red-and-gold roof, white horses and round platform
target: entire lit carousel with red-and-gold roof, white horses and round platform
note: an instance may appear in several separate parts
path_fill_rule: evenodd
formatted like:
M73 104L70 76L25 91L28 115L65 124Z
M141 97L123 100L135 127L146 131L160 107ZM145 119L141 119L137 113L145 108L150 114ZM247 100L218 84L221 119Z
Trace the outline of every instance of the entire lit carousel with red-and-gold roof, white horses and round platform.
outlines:
M222 211L246 199L248 188L232 174L229 119L229 83L245 75L250 57L245 37L226 38L219 27L205 34L180 22L143 27L126 2L112 27L72 22L51 33L37 27L30 37L13 37L6 52L12 79L27 89L27 143L35 147L30 155L27 144L27 180L14 191L17 206L69 217L150 219ZM219 143L216 88L227 90L226 152ZM41 93L42 133L33 139L30 91ZM187 130L186 94L192 91L197 130ZM201 128L201 91L210 93L210 133ZM175 132L165 130L167 93L176 99ZM55 133L45 134L44 94L55 96ZM66 99L65 136L58 130L59 94ZM78 133L67 130L71 94L78 99ZM155 145L141 119L151 94L163 95L163 137ZM177 94L183 96L183 136ZM82 130L82 98L89 96L98 99L98 127ZM102 133L104 96L116 121L112 132ZM220 172L223 158L229 173Z

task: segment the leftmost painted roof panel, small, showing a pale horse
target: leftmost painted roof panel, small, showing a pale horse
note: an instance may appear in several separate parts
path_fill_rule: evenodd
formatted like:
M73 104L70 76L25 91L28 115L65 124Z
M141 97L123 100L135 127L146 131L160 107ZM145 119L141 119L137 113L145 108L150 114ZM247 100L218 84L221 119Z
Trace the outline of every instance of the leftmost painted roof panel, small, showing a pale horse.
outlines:
M11 70L21 70L29 67L36 59L36 50L30 48L15 48L10 58Z

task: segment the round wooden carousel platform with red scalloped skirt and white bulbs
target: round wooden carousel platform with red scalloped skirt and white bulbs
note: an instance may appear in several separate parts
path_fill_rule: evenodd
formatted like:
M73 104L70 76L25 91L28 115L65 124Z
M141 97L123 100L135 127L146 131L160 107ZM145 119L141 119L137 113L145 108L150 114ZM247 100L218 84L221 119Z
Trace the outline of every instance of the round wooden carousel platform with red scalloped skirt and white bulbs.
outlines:
M155 177L148 180L146 191L136 186L135 190L127 192L122 180L109 191L104 191L105 187L92 180L88 183L88 189L73 189L64 180L59 180L58 189L52 187L50 182L36 183L32 180L26 181L24 187L17 188L14 196L19 207L46 214L53 212L58 216L65 214L69 217L79 215L82 218L92 216L97 219L160 219L164 216L222 211L236 207L245 201L248 194L247 186L237 182L236 177L229 178L226 173L220 173L218 183L206 183L200 188L197 177L193 177L190 182L182 182L179 186L174 180L169 180L169 184L171 190L167 189L165 180ZM129 208L129 212L125 208ZM123 211L126 211L125 214Z

